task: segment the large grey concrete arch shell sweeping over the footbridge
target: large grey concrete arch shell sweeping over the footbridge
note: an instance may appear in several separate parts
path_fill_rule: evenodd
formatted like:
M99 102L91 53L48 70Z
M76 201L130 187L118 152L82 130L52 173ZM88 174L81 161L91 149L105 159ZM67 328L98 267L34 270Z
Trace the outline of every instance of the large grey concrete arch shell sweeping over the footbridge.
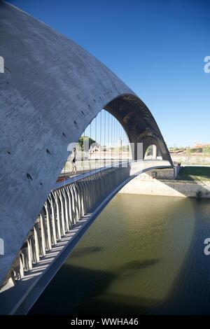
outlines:
M0 2L0 284L68 157L67 145L107 109L130 141L170 156L150 111L101 62L65 36ZM137 155L134 154L134 157Z

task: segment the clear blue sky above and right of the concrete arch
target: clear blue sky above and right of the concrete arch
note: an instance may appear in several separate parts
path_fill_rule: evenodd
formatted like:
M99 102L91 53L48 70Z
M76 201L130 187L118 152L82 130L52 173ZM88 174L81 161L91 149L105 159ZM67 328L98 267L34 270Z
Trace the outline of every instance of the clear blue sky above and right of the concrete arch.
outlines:
M10 0L100 59L168 146L210 142L210 0Z

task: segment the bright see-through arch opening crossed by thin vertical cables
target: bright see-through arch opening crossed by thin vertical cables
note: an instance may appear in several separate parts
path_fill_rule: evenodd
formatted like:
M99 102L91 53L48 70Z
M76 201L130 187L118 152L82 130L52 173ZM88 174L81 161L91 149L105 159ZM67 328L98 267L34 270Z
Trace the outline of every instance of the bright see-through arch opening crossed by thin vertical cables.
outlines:
M121 162L132 160L130 141L123 125L104 109L87 125L78 141L69 144L68 151L69 157L57 182L76 174L85 174L94 169L117 166Z

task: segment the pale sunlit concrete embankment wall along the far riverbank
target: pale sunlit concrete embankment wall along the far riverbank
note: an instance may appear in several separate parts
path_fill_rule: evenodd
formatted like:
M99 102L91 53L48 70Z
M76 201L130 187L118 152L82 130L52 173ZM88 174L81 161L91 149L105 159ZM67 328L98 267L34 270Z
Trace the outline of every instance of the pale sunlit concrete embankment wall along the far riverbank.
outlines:
M164 195L167 197L210 198L210 182L178 181L176 179L153 178L144 173L132 179L120 190L120 193L139 195Z

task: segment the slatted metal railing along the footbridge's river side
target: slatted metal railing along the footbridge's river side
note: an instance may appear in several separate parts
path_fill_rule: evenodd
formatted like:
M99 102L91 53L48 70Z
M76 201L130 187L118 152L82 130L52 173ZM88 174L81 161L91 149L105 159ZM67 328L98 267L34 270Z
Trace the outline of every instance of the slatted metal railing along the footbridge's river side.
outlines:
M52 190L18 253L12 278L24 278L66 233L129 176L130 165L110 167Z

